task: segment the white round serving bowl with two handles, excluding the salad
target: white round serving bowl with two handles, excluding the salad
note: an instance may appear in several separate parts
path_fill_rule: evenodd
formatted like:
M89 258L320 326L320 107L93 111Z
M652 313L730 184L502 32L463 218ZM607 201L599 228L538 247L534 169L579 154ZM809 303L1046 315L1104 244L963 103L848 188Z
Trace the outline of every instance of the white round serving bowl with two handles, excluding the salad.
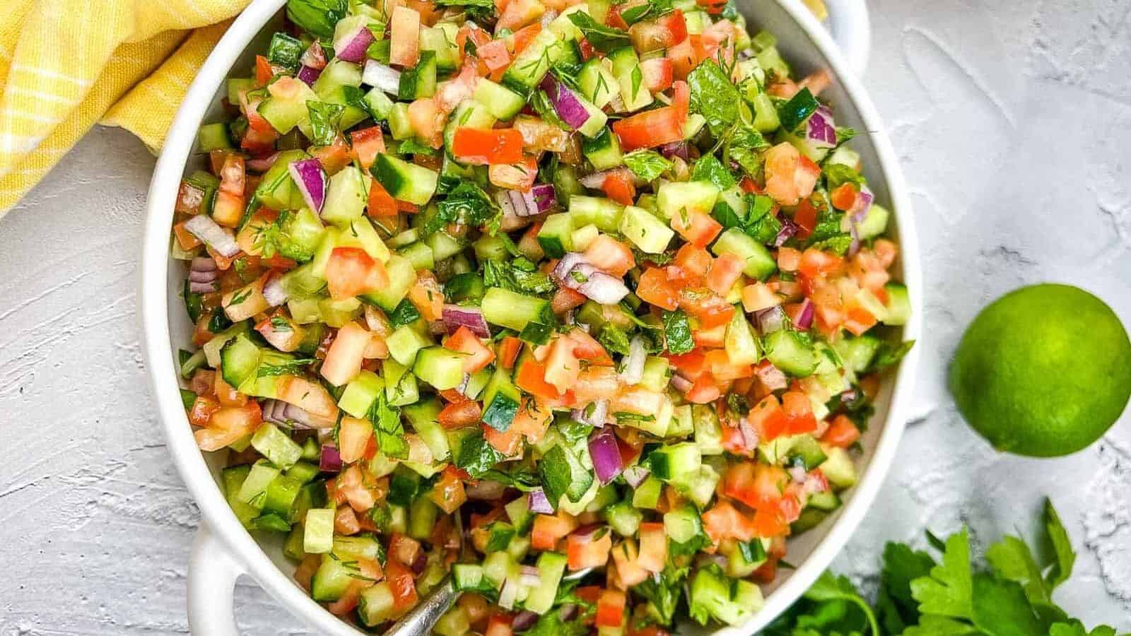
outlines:
M904 340L920 336L922 280L912 218L910 200L896 164L895 151L882 131L879 114L864 94L856 72L867 58L867 16L863 0L827 0L830 28L836 37L798 0L739 0L752 28L769 29L797 75L828 68L834 84L829 98L841 126L860 136L853 147L863 157L864 172L877 200L888 204L895 217L890 233L900 246L897 278L909 291L912 319ZM202 454L192 437L181 404L176 367L178 349L188 349L192 334L180 296L185 268L170 258L170 227L181 178L204 164L195 152L199 126L221 114L225 79L233 68L250 68L257 51L266 49L282 22L285 0L254 0L232 24L197 75L170 128L165 147L154 170L147 203L145 244L141 255L141 318L146 358L161 421L173 463L200 508L201 525L189 561L189 626L196 636L236 636L233 618L235 579L250 575L279 603L318 631L333 636L363 634L339 620L294 583L294 566L282 553L278 536L249 533L240 525L219 487L223 454ZM838 44L840 48L838 48ZM783 571L769 586L766 605L749 624L718 629L717 636L753 634L787 609L828 567L860 524L883 482L910 407L916 350L889 375L877 401L877 412L863 437L858 458L860 482L847 492L844 506L819 527L789 543L789 560L797 569ZM699 627L680 630L707 633Z

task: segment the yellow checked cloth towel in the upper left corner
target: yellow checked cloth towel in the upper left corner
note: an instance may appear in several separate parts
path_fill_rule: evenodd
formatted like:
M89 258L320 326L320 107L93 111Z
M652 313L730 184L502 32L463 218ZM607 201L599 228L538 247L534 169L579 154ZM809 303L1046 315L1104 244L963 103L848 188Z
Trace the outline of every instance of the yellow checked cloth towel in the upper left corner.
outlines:
M0 0L0 216L100 121L161 147L248 2Z

